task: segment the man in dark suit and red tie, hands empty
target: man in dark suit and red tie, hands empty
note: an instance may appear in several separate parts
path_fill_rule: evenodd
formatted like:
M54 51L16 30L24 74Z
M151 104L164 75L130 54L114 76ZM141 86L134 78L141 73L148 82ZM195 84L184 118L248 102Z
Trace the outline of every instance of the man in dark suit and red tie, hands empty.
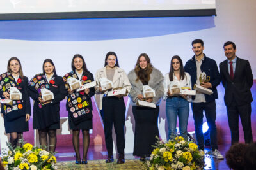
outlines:
M252 69L248 60L236 56L236 45L224 43L227 60L220 63L220 75L225 88L224 101L227 106L228 124L231 131L231 143L239 142L239 115L244 130L245 143L252 143L251 87L253 85Z

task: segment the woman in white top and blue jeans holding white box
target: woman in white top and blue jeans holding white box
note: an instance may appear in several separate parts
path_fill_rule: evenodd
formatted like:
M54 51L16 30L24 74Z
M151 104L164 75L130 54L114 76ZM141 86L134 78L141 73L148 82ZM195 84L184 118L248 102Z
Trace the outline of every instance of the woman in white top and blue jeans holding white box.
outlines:
M191 100L191 96L180 94L182 89L191 90L191 78L190 75L184 71L180 57L175 55L171 60L170 72L164 76L163 99L166 100L168 139L175 139L177 136L177 117L179 117L180 136L184 139L188 139L188 101Z

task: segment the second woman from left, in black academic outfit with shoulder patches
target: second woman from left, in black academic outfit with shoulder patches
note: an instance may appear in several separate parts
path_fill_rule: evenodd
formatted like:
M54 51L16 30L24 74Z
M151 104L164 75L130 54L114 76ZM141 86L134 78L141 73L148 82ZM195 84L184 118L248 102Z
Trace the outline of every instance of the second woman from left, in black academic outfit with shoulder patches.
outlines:
M44 101L41 89L50 90L54 99ZM38 129L40 145L54 152L57 138L56 129L60 129L60 101L67 95L65 83L55 71L51 59L45 59L43 73L36 74L29 82L29 95L35 101L33 106L33 129ZM48 140L47 140L48 135Z

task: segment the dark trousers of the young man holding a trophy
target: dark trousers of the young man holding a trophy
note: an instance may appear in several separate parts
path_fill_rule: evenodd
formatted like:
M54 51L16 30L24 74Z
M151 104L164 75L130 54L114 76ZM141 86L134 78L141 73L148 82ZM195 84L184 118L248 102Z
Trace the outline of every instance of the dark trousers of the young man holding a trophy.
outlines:
M209 126L211 149L218 149L217 145L217 129L216 129L216 103L215 100L211 102L191 103L193 117L195 120L196 140L199 149L204 150L204 134L203 134L203 118L205 117Z

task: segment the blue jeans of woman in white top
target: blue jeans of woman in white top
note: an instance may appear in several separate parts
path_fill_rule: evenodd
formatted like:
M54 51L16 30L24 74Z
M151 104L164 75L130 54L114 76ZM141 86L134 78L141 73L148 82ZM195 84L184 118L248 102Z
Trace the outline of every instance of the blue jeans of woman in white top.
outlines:
M180 136L188 139L187 126L189 116L189 103L183 97L168 97L166 100L166 118L168 122L168 139L175 139L177 117L179 117Z

